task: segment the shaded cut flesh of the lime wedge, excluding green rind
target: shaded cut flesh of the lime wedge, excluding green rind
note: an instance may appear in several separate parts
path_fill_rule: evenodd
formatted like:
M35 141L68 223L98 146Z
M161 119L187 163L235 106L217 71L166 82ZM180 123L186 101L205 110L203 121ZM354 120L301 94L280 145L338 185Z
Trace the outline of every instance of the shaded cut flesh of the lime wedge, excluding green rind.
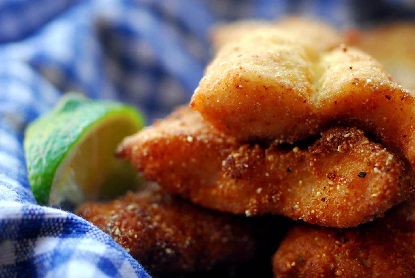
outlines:
M125 116L103 118L74 146L54 176L48 205L71 207L85 200L110 199L139 186L132 167L114 155L117 144L137 131Z

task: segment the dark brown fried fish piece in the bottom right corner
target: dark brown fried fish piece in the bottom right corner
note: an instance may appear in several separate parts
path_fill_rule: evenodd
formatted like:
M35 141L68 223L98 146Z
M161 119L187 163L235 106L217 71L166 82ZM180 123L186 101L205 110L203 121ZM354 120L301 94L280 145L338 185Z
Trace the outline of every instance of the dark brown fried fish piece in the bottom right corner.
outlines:
M275 277L414 277L415 202L351 229L299 224L273 256Z

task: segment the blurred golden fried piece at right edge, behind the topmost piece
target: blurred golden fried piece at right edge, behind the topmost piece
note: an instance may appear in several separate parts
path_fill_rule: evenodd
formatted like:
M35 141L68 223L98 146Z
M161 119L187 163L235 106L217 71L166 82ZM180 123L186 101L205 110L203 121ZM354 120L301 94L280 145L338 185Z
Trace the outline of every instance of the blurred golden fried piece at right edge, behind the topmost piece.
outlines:
M348 43L375 57L403 87L415 91L415 25L394 23L346 33Z

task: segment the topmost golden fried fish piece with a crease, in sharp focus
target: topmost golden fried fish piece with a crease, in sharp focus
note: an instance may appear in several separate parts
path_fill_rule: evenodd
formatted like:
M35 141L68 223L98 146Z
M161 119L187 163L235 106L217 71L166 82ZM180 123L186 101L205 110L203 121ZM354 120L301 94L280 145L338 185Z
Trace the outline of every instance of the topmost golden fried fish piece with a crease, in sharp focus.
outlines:
M342 121L415 167L413 94L358 49L320 50L299 32L251 32L220 49L190 106L244 141L294 142Z

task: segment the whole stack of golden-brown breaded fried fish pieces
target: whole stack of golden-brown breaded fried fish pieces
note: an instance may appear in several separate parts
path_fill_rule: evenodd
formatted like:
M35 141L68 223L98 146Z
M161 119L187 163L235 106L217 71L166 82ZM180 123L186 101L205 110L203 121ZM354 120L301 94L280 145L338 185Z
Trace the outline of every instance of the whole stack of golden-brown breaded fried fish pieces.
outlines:
M408 33L298 18L216 28L190 107L117 150L159 187L78 214L162 277L259 277L271 264L275 277L413 277Z

